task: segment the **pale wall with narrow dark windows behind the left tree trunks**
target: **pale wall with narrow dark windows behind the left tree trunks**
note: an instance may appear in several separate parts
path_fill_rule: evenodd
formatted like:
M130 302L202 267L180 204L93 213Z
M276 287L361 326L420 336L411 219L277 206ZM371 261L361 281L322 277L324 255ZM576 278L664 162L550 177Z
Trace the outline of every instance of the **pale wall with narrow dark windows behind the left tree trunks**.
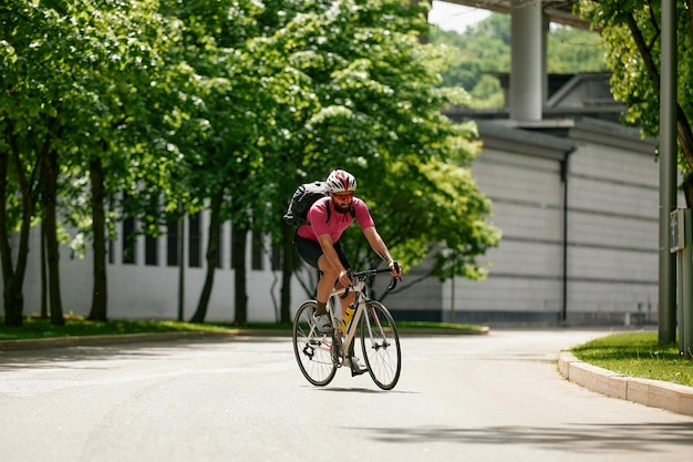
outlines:
M203 224L203 229L205 225ZM187 232L186 232L187 235ZM217 268L213 287L211 299L207 310L208 321L232 321L234 311L234 270L230 269L230 226L224 226L226 251L223 268ZM203 243L203 245L206 245ZM114 260L122 261L122 243L115 242ZM203 249L205 247L203 246ZM157 266L144 264L144 237L137 238L136 263L108 264L108 318L111 319L177 319L178 317L178 267L166 266L166 237L158 239ZM204 254L203 254L204 255ZM38 228L32 230L29 268L24 283L24 314L40 312L40 251ZM93 278L92 249L86 251L84 259L71 259L70 249L61 248L61 286L64 314L87 316L91 309ZM248 249L250 261L250 249ZM204 263L204 259L203 259ZM270 268L269 258L263 263ZM279 320L280 278L279 271L247 270L248 290L248 320L277 321ZM189 320L197 308L197 302L205 278L204 268L185 269L185 310L184 319ZM277 278L277 284L271 285ZM275 299L272 299L272 295ZM298 306L307 298L303 289L293 280L292 305ZM0 301L1 304L1 301Z

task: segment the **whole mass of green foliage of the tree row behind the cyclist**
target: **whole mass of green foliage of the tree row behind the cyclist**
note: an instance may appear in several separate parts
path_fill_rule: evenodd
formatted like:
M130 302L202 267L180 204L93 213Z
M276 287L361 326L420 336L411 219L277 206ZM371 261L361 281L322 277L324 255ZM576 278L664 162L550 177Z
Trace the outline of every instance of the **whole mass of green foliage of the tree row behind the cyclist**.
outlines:
M0 11L0 78L10 82L0 89L0 154L12 148L20 162L3 184L13 193L33 175L35 185L41 155L56 153L61 215L84 249L101 232L96 186L111 229L134 216L159 235L179 203L194 213L223 197L221 223L277 237L296 185L340 166L359 177L374 216L387 217L379 229L397 258L411 266L435 250L437 277L483 277L476 257L499 235L468 170L474 127L442 114L469 95L441 86L449 48L421 40L427 8L10 0ZM480 69L459 75L472 83ZM35 214L8 195L8 229L41 216L32 197ZM372 259L363 243L354 238L354 251Z

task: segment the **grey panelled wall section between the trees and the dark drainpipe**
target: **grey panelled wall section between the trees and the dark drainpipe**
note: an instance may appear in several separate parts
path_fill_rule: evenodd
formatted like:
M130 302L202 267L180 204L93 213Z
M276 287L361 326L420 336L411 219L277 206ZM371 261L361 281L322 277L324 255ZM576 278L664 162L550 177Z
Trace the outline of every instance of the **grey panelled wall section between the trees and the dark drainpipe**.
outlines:
M445 285L444 311L454 308L468 320L483 317L479 311L506 319L526 312L555 317L562 267L560 163L485 148L473 172L479 189L493 201L492 222L503 238L483 258L492 264L486 280L455 280L454 300L452 283Z

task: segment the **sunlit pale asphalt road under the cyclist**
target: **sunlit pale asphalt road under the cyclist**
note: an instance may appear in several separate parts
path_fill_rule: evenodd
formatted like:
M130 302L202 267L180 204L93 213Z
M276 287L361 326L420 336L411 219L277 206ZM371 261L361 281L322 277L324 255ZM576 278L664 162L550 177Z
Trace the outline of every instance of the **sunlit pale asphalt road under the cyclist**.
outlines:
M404 337L392 391L310 386L287 338L0 351L0 461L690 460L693 418L559 374L603 333Z

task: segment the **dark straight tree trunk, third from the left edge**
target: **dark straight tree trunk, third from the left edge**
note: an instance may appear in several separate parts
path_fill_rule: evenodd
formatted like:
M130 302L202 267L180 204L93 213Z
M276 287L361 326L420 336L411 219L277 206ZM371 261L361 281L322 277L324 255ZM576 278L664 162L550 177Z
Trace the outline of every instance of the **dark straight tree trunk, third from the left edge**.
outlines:
M94 232L94 289L92 291L92 309L90 320L107 319L107 279L106 279L106 213L103 164L101 157L92 157L89 163L92 183L92 228Z

